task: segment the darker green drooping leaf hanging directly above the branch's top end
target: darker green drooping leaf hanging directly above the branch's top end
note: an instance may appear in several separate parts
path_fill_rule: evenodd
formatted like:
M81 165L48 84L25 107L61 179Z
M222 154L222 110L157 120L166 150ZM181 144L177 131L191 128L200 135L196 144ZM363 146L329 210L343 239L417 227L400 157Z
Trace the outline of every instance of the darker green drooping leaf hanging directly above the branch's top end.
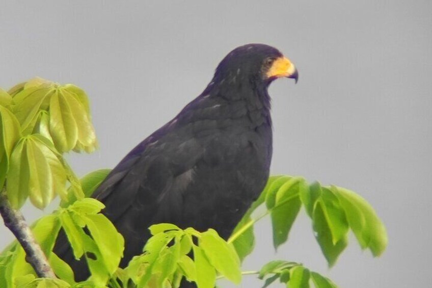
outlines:
M30 169L25 138L21 139L11 154L7 181L7 196L13 208L20 208L29 196Z

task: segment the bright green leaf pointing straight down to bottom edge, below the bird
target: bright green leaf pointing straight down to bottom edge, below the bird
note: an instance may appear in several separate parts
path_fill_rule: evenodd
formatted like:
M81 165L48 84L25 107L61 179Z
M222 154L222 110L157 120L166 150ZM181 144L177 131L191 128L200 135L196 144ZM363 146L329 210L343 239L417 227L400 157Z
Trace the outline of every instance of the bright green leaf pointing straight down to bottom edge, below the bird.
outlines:
M216 282L216 271L214 267L210 265L203 249L193 245L194 250L194 262L195 269L197 272L196 283L200 288L213 288Z

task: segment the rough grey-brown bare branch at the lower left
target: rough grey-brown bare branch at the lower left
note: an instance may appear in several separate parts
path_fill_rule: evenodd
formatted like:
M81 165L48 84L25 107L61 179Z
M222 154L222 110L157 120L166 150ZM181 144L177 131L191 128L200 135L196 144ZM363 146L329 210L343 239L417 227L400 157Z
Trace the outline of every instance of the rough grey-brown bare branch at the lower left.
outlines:
M25 222L19 210L12 208L8 198L0 192L0 214L5 221L5 226L12 231L25 251L25 260L35 269L39 277L57 278L45 254L33 236L32 230Z

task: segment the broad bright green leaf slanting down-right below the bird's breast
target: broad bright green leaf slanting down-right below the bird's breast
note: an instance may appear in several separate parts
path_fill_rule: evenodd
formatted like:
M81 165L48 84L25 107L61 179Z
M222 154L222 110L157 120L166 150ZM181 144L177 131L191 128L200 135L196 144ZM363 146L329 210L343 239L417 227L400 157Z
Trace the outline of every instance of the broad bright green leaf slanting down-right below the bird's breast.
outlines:
M199 246L210 264L228 280L238 284L241 281L240 260L237 253L213 229L201 233Z

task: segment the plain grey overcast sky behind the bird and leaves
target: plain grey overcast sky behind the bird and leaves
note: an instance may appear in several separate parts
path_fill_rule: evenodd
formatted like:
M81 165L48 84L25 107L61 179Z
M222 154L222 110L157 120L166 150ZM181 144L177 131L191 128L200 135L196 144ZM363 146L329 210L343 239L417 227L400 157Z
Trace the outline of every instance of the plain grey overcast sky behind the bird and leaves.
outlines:
M372 258L351 235L328 269L302 212L277 254L269 222L260 223L258 249L245 269L278 258L299 261L345 288L431 287L431 11L429 0L5 0L0 87L38 75L88 92L100 150L68 158L84 175L114 167L174 117L231 49L274 45L300 79L269 89L272 174L358 192L386 224L389 246ZM30 205L24 214L30 222L42 215ZM0 235L1 250L12 234L0 225ZM261 283L247 276L242 286Z

